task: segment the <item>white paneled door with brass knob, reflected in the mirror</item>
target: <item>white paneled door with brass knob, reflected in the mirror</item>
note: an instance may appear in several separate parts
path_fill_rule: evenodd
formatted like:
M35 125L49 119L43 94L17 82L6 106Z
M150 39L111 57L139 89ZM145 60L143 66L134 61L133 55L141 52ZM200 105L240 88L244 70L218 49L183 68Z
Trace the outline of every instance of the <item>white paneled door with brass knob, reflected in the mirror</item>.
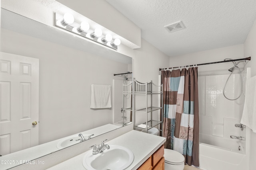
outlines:
M39 60L0 52L0 154L38 145Z

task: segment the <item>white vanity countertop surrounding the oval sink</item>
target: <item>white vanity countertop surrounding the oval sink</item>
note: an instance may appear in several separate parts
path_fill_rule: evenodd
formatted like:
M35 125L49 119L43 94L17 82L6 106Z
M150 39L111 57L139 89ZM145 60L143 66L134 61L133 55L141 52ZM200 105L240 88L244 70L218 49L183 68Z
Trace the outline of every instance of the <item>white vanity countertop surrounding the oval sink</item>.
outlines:
M165 141L166 138L164 137L132 130L119 137L116 137L115 139L112 139L111 141L105 142L105 144L110 145L110 148L111 145L119 145L130 149L134 154L134 161L126 170L136 170L150 157L150 155L152 155L160 146L162 146ZM98 141L96 145L100 143L101 141ZM88 150L87 152L92 152L92 149ZM85 170L82 160L87 152L52 166L47 170Z

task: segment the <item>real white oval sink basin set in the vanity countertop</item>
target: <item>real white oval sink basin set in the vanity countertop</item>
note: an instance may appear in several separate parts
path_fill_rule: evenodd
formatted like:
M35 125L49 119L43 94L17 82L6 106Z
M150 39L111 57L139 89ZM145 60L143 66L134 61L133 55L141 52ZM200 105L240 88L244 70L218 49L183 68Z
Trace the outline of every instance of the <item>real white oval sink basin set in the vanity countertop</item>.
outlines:
M110 149L96 155L89 150L82 163L87 170L124 170L133 160L134 155L130 149L112 145Z

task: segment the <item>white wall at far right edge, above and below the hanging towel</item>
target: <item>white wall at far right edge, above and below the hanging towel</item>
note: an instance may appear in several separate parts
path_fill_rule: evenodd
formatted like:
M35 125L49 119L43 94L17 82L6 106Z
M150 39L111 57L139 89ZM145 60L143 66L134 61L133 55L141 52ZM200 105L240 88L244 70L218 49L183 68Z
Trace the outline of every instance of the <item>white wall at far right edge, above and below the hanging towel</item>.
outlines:
M252 57L247 66L251 67L251 76L256 76L256 21L254 21L254 25L244 42L244 56ZM250 137L250 170L254 170L256 158L256 133L253 133L252 130L250 130Z

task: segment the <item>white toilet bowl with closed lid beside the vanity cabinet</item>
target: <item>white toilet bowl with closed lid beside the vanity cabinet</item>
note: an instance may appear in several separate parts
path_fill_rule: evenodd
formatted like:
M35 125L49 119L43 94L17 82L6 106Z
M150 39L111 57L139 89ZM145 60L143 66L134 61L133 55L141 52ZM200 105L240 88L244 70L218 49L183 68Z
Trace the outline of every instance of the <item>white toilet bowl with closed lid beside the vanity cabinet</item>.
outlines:
M164 149L164 169L183 170L185 158L179 152L172 149Z

